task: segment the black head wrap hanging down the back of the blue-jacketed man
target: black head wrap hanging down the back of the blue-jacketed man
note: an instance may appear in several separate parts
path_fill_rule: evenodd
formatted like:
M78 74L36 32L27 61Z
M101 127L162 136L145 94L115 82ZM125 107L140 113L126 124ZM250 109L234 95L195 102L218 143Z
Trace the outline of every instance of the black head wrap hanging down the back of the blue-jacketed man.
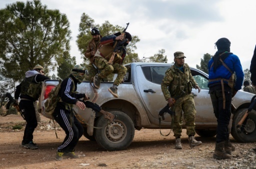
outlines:
M222 37L216 41L215 46L217 46L218 50L216 51L212 58L213 72L216 71L219 65L222 65L222 63L219 61L219 58L221 58L221 60L224 61L229 54L232 54L230 53L230 44L231 42L225 37Z

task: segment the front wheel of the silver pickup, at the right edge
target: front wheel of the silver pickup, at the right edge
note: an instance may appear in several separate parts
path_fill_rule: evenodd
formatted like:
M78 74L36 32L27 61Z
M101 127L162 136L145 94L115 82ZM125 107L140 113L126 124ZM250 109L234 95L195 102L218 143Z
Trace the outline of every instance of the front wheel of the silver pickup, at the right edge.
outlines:
M248 120L242 133L237 132L236 125L241 120L247 109L240 109L233 117L231 135L237 142L256 142L256 112L249 112Z

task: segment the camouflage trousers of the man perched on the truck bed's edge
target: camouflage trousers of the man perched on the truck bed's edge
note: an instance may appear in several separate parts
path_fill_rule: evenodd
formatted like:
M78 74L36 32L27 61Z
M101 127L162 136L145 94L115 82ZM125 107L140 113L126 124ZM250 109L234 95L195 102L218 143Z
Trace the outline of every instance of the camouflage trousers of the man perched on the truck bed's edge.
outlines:
M100 70L98 77L101 79L106 78L111 73L117 73L117 77L113 83L116 86L118 86L122 82L123 76L127 72L126 67L124 67L123 65L119 65L118 63L115 63L113 65L108 64L107 60L103 57L95 57L94 64Z

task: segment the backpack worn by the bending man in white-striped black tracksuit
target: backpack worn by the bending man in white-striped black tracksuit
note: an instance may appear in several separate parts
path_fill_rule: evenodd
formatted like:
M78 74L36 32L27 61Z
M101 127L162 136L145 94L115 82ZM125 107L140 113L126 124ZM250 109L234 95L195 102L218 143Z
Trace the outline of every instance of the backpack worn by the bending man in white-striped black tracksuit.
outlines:
M53 89L51 89L51 91L48 94L48 98L44 103L44 110L46 115L52 115L57 103L60 101L60 97L58 95L60 86L61 80L58 80L58 84Z

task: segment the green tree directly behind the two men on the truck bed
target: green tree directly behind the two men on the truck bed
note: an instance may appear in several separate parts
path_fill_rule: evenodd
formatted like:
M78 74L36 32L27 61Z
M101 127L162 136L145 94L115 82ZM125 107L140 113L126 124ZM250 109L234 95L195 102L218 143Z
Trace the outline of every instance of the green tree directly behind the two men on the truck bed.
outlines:
M122 30L124 29L124 27L121 27L119 25L112 25L111 23L109 23L109 21L105 21L101 25L95 24L94 20L91 17L89 17L85 13L82 13L79 23L79 34L77 35L76 44L80 51L81 58L83 59L83 65L85 65L85 67L88 64L88 60L84 57L84 52L86 51L88 43L92 38L90 34L91 27L99 28L100 34L102 36L107 36L110 34L114 34L116 32L122 32ZM128 28L127 32L129 32ZM135 49L137 48L136 43L139 41L140 39L136 35L132 35L132 41L129 42L129 44L126 46L127 55L125 56L123 62L124 64L139 60L138 55L134 53Z

